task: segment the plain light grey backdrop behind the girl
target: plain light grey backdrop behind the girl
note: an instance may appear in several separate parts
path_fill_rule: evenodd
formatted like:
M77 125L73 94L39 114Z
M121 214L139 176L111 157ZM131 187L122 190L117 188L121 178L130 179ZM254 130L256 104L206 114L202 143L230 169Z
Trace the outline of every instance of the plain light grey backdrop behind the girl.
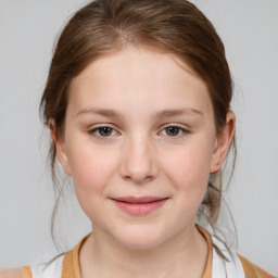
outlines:
M0 268L46 262L53 192L38 108L52 46L88 1L0 0ZM278 274L278 1L195 0L226 46L235 80L238 161L227 200L238 252ZM58 232L65 250L90 230L74 194ZM237 247L235 247L237 248Z

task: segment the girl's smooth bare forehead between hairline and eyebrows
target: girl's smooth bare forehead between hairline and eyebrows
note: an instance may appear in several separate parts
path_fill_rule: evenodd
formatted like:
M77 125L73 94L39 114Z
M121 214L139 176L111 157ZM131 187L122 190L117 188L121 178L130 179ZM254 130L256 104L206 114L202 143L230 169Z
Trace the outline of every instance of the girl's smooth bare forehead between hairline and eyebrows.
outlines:
M182 104L212 110L205 83L187 64L172 54L131 46L97 59L73 79L70 105L78 110L97 104L122 111Z

